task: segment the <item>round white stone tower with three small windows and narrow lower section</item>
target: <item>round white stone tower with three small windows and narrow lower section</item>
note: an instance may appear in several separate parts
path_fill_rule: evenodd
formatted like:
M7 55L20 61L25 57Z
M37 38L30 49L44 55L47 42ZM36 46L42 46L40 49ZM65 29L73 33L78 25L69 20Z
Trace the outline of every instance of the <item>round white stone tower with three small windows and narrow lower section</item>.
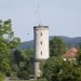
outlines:
M35 76L41 76L40 60L48 59L49 54L49 26L35 26Z

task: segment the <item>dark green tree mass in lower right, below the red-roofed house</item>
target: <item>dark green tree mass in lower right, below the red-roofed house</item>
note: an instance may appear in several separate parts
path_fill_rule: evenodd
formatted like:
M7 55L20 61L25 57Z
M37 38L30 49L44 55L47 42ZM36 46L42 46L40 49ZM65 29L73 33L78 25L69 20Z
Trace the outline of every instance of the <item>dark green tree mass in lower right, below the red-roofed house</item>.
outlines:
M81 81L81 67L62 57L51 57L43 68L48 81Z

